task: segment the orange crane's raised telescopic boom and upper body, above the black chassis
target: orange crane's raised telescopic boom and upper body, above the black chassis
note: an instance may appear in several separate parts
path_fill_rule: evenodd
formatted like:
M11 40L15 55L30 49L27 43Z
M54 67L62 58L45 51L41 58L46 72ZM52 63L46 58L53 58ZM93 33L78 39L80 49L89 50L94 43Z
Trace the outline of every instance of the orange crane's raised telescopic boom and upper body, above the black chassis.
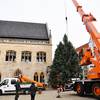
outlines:
M87 32L90 34L90 37L95 44L95 48L94 48L95 57L89 58L90 61L95 65L95 68L93 68L91 71L89 71L87 77L89 79L100 78L100 56L99 56L100 55L100 34L92 23L92 21L96 21L96 19L93 17L93 15L91 13L86 14L83 11L82 6L80 6L76 0L72 0L72 1L77 9L77 12L79 12L80 16L82 17L82 22L86 26ZM87 58L87 57L88 57L88 55L86 55L84 58ZM81 63L84 63L84 61L85 61L84 58L81 61Z

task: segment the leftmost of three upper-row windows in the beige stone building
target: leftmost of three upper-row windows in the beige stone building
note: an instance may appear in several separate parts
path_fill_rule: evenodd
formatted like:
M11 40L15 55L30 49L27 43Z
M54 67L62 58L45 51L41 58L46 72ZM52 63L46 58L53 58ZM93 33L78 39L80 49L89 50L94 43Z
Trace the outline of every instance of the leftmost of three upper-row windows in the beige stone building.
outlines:
M15 61L16 59L16 52L13 50L9 50L6 52L6 61Z

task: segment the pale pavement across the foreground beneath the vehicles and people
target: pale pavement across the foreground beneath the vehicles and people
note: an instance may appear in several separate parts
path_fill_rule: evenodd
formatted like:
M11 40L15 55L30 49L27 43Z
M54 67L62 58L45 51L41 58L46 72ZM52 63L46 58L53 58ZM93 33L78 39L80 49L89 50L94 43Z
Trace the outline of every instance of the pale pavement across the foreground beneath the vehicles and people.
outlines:
M79 97L73 91L62 92L61 98L57 97L57 91L47 90L43 91L42 94L36 94L35 100L96 100L92 96ZM0 100L14 100L14 95L3 95L0 96ZM31 100L30 95L20 95L19 100Z

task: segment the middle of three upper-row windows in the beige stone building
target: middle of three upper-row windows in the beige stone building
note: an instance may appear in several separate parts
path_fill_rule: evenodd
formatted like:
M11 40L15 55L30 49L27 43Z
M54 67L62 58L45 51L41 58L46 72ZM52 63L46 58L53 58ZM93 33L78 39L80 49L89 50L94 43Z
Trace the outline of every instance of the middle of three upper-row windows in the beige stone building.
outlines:
M31 52L30 51L22 51L21 61L31 62Z

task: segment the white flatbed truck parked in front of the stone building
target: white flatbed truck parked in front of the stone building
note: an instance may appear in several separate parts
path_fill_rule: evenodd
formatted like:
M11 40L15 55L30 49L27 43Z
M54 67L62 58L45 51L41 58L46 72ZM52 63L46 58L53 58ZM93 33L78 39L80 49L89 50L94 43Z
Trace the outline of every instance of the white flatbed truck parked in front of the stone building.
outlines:
M17 78L4 78L0 82L0 95L15 93L16 91L15 84L17 80L18 80ZM27 93L29 91L30 85L31 84L20 84L21 92Z

